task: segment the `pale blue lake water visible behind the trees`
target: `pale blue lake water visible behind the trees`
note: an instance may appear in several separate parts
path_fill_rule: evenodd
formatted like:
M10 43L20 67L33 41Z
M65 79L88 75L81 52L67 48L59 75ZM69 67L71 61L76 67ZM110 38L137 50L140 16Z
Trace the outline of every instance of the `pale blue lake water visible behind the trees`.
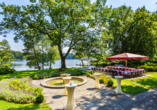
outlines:
M21 70L37 70L34 69L34 67L29 68L28 66L26 66L27 64L27 60L17 60L12 62L14 64L14 69L16 69L16 71L21 71ZM80 60L78 59L67 59L66 61L66 67L67 68L71 68L71 67L80 67L80 66L76 66L76 64L82 64ZM84 64L87 64L87 61L83 61ZM61 67L61 60L57 60L55 62L55 64L52 64L51 66L52 68L60 68ZM49 66L45 66L44 69L49 68Z

